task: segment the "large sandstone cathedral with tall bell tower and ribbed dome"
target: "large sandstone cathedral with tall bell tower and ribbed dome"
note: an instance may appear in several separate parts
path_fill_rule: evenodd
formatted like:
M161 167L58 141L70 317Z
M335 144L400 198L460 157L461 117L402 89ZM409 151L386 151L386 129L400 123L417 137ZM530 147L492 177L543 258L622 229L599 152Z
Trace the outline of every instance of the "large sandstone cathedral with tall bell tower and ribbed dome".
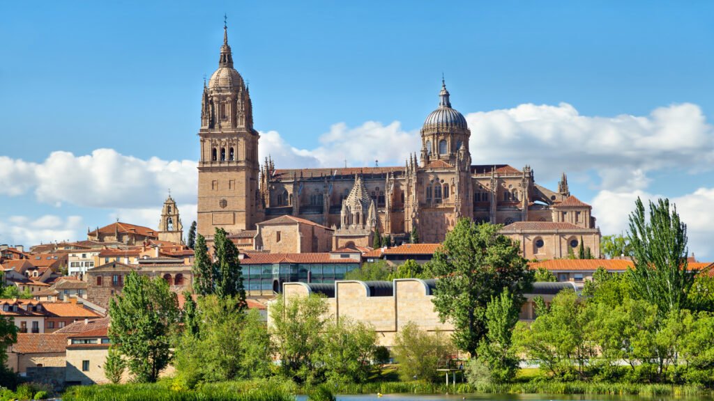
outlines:
M208 240L217 227L238 234L291 215L330 228L333 249L370 246L375 230L395 243L408 241L412 230L422 243L439 243L456 220L470 218L503 224L526 258L564 258L581 243L600 255L592 208L570 195L565 173L552 191L535 183L529 166L471 164L471 130L443 80L421 128L421 149L403 166L276 168L280 161L258 160L250 93L233 68L224 26L218 69L203 87L198 136L198 233Z

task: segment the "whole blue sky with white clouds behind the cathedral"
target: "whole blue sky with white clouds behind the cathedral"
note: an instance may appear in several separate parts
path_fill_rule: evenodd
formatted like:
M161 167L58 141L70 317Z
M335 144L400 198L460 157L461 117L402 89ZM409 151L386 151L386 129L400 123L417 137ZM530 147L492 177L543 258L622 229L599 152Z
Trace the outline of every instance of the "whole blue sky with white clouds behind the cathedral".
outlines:
M0 243L79 238L116 216L154 226L169 186L188 225L201 86L225 12L261 152L278 167L401 163L444 73L475 163L528 163L551 187L568 171L605 234L624 228L633 197L678 199L693 250L714 259L714 217L698 206L714 200L713 11L708 1L4 2ZM354 135L364 146L346 148Z

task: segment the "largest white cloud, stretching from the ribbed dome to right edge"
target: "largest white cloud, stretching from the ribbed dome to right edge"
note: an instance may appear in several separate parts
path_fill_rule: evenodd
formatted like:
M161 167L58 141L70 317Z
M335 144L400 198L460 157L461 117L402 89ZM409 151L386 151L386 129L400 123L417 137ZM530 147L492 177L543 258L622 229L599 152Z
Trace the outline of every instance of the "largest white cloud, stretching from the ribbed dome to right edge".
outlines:
M595 169L611 191L646 188L650 171L701 171L714 161L714 128L691 103L615 117L581 116L568 103L522 104L466 119L474 163L528 163L548 179Z

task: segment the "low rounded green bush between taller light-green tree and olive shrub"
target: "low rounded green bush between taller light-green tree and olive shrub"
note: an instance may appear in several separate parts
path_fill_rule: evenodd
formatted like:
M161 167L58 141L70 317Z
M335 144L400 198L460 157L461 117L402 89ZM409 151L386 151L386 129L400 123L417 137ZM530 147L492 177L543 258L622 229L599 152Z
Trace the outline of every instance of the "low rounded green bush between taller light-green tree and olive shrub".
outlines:
M323 332L324 345L316 354L333 382L366 382L377 342L373 328L348 318L328 323Z

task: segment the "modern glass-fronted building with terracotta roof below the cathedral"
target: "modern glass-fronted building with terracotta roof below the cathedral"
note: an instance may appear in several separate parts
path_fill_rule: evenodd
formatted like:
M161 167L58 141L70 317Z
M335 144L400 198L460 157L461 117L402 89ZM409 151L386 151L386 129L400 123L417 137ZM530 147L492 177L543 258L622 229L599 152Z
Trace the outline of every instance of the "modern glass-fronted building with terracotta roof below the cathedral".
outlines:
M283 283L334 283L360 267L358 254L246 253L241 260L248 295L272 295Z

